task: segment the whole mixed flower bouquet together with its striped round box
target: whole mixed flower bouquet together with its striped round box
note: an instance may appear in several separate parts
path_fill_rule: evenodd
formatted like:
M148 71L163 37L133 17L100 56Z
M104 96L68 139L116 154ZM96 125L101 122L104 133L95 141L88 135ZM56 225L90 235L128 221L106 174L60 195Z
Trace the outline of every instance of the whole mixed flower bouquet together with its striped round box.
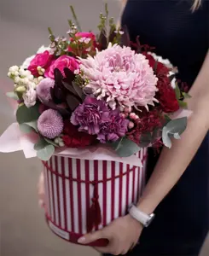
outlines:
M9 68L17 123L3 133L0 149L43 161L49 227L77 242L137 201L146 148L170 148L180 138L188 95L177 85L177 68L138 38L131 43L107 6L97 37L82 32L72 11L67 38L49 28L49 47Z

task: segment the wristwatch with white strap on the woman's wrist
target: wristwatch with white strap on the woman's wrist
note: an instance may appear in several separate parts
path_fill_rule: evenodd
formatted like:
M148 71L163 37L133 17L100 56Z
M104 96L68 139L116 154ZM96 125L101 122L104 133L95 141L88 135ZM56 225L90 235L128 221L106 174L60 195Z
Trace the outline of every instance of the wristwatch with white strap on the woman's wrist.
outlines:
M154 213L147 214L142 212L135 205L131 205L129 208L129 214L132 218L135 218L138 222L140 222L145 228L147 228L154 219Z

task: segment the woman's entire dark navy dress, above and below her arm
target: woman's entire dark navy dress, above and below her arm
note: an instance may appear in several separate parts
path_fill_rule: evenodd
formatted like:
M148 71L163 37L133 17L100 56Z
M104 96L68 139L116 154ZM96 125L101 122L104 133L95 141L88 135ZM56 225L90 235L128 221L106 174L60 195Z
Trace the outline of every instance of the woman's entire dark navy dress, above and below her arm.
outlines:
M209 41L209 2L202 0L193 14L192 2L129 0L122 17L131 40L139 35L142 44L156 47L157 55L177 66L179 78L190 85L200 71ZM183 177L156 209L154 222L143 230L140 244L128 255L198 255L209 228L208 145L207 135ZM148 177L157 160L150 149Z

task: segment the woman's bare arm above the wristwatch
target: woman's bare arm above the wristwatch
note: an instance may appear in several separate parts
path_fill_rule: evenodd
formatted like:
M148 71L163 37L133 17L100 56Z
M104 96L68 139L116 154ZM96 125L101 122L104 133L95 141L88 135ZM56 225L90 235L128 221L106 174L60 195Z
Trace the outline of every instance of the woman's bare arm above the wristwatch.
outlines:
M177 183L209 129L209 51L189 94L192 98L188 104L193 114L189 118L187 130L181 140L173 141L171 149L163 149L154 173L138 202L144 212L154 212L160 201Z

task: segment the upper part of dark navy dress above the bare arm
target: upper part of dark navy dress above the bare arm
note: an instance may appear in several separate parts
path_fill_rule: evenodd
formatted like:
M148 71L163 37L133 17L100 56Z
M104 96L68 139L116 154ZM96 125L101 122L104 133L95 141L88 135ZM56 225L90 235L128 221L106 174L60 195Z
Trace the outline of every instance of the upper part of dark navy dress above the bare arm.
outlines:
M129 0L122 24L131 40L154 46L156 53L179 68L179 78L191 85L200 71L209 41L207 0L191 12L192 0Z

